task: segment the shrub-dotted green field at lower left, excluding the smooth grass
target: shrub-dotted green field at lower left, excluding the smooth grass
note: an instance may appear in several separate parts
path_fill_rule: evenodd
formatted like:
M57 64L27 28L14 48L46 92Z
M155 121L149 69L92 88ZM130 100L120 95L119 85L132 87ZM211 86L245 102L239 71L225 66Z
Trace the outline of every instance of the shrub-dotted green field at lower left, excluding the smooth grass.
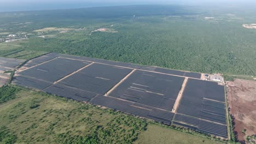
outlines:
M0 105L0 125L25 143L131 143L146 123L50 95L19 89ZM0 141L1 142L1 141Z

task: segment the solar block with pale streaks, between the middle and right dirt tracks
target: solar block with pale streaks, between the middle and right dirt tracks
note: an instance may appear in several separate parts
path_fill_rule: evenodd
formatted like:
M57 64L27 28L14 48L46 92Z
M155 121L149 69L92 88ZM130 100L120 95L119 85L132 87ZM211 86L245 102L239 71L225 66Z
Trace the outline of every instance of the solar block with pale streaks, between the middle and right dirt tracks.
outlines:
M183 81L184 77L136 70L109 96L171 111Z

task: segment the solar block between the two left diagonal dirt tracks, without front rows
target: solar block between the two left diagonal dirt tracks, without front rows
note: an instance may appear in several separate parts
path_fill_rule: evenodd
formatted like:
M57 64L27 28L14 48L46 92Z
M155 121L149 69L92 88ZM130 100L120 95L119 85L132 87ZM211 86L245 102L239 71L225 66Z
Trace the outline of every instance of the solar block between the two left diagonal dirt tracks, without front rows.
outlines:
M59 84L105 94L130 72L131 69L94 63L60 81Z

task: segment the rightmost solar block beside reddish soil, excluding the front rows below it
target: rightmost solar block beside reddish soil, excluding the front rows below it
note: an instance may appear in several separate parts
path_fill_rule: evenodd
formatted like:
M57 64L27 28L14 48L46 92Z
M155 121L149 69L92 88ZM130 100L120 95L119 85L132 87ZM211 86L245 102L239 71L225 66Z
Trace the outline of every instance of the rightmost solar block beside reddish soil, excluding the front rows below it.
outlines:
M222 91L219 87L222 87ZM218 92L212 92L214 90ZM224 98L224 87L218 85L218 83L189 79L177 112L225 124L225 103L216 101Z

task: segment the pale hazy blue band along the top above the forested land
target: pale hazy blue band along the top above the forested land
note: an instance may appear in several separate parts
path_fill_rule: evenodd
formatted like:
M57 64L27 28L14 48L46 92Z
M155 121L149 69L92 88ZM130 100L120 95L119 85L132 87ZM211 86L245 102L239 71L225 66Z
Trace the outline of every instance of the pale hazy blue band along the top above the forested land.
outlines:
M135 4L255 4L256 0L0 0L0 11L71 9Z

